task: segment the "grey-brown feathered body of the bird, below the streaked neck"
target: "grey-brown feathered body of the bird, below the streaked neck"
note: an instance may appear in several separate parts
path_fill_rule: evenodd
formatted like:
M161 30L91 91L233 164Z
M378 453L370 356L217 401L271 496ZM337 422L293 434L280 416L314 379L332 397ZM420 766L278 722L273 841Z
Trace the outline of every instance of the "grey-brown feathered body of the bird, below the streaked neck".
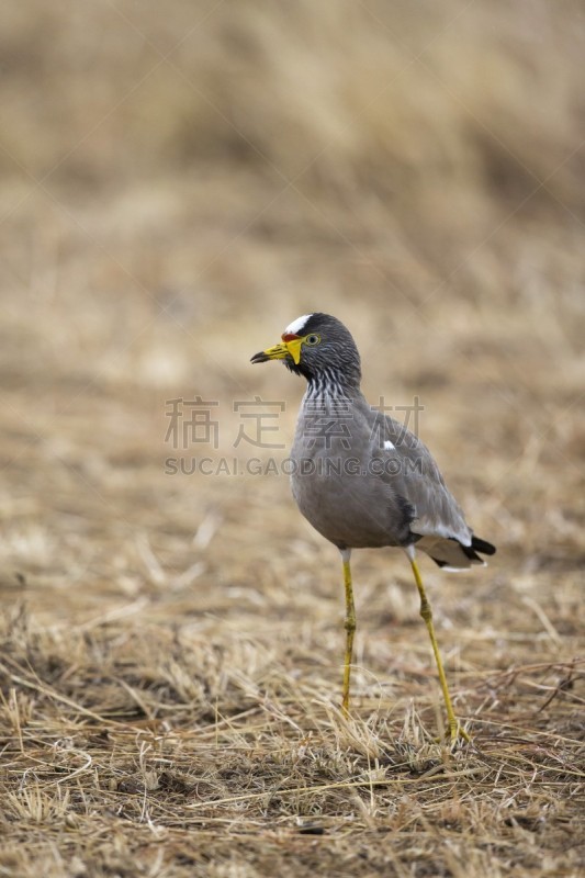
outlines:
M291 457L299 508L339 549L437 548L446 538L471 545L471 530L429 450L359 391L351 398L307 391ZM435 556L457 565L461 554L469 566L455 547L448 543Z

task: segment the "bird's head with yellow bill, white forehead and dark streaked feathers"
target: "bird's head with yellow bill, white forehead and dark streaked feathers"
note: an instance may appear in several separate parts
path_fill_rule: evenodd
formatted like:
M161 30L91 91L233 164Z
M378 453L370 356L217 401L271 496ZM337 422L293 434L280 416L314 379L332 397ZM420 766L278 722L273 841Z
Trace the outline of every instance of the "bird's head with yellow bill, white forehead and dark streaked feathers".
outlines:
M283 331L282 341L255 353L252 363L283 360L284 365L307 381L319 379L359 385L360 354L351 334L329 314L304 314Z

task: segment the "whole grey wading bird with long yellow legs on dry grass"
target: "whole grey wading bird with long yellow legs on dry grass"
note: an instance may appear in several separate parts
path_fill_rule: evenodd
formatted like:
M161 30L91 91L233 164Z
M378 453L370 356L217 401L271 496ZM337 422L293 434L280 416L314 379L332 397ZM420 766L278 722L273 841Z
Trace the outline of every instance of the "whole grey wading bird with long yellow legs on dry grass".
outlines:
M485 565L495 547L476 537L449 492L430 451L415 432L370 406L361 361L347 327L316 312L294 319L281 341L251 363L282 360L306 380L289 471L303 516L341 554L346 648L341 708L349 716L356 608L353 549L397 547L406 553L420 600L445 700L451 742L471 741L455 717L417 550L446 571Z

